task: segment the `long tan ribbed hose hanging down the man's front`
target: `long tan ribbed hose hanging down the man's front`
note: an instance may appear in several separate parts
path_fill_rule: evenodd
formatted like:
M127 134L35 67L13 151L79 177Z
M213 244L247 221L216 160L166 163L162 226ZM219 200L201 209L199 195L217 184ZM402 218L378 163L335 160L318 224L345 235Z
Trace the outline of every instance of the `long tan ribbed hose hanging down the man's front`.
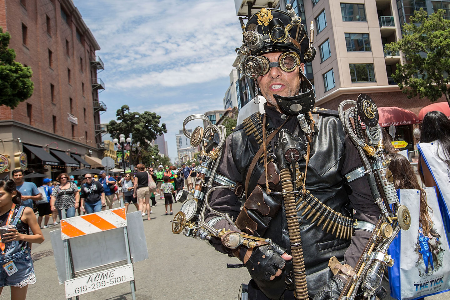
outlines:
M291 172L288 168L281 170L281 186L283 191L293 190ZM308 299L308 287L306 286L305 262L303 261L302 238L300 237L300 225L298 224L297 207L295 197L291 193L283 195L286 219L288 223L289 241L292 252L292 264L294 269L294 285L297 300Z

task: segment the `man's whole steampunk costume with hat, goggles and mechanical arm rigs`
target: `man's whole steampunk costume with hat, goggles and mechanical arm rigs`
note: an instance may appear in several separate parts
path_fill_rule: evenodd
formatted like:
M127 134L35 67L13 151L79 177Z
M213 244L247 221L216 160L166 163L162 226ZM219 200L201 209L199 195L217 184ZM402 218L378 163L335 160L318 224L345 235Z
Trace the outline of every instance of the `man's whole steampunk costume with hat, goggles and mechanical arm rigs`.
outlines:
M226 140L223 125L185 130L206 116L184 120L202 164L194 188L177 195L183 205L172 231L244 262L252 280L239 299L383 298L381 274L393 263L387 248L410 219L384 160L377 107L361 94L338 111L313 108L300 67L315 56L314 27L308 39L287 9L249 19L238 63L257 94L277 72L298 72L297 94L265 94L265 113L247 117Z

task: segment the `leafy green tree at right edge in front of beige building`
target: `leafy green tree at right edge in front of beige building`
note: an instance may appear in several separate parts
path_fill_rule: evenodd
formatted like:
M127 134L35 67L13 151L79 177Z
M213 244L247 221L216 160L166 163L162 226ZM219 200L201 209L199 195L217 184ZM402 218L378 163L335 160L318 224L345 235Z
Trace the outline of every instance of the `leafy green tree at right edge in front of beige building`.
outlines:
M450 20L444 14L443 9L431 15L416 10L402 26L402 39L385 49L400 50L405 56L406 63L397 64L392 78L409 99L419 95L434 102L444 94L450 106Z

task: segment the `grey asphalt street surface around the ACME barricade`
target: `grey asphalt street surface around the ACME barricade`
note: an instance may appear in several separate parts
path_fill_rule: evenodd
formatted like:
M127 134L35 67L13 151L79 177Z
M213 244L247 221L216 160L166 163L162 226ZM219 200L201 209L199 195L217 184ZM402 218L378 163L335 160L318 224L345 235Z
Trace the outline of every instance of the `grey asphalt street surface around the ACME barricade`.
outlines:
M169 220L179 211L181 203L174 203L174 215L164 215L163 200L157 201L151 220L143 217L149 258L134 264L136 299L236 300L240 284L250 279L247 269L227 269L227 263L238 264L239 260L215 251L205 242L182 234L174 235ZM128 212L135 210L135 206L130 205ZM32 257L37 282L28 287L27 299L65 299L64 285L58 284L49 234L58 228L59 225L42 229L45 241L33 244ZM387 282L383 285L389 288ZM447 292L426 299L444 300L448 296ZM8 287L0 295L0 300L3 299L10 299ZM79 299L131 300L130 283L80 295ZM392 300L389 296L386 299Z

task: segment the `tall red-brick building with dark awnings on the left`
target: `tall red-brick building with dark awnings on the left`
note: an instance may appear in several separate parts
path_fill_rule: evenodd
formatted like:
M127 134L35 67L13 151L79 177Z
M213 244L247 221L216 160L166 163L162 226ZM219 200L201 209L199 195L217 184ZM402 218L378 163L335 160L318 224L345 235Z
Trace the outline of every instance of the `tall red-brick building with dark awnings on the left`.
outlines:
M97 77L100 49L71 0L0 0L0 26L9 31L16 61L31 67L32 96L14 110L0 107L2 154L27 155L29 170L55 177L101 157ZM23 157L23 156L22 156ZM22 166L25 168L24 166ZM53 173L53 174L52 174ZM0 177L7 175L6 172Z

